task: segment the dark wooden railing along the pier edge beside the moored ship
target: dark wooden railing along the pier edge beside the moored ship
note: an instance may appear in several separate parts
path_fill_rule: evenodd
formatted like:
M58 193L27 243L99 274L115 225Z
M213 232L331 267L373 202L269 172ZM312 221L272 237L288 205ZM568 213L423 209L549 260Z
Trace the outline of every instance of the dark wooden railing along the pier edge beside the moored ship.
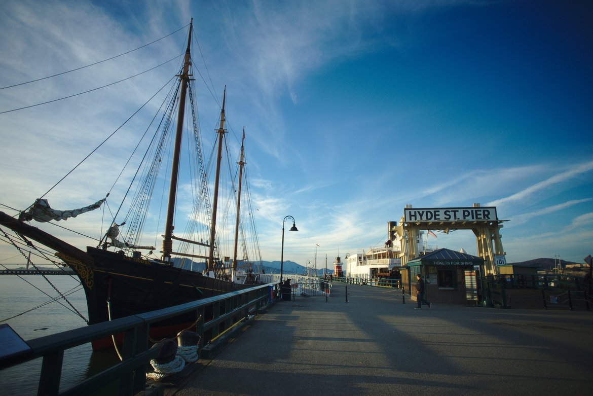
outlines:
M0 370L43 357L37 395L87 395L117 380L119 395L134 395L145 391L146 368L150 360L160 352L149 345L148 334L151 324L194 311L196 318L200 318L196 324L196 333L200 335L198 349L202 349L206 332L209 340L216 338L233 324L243 321L253 312L260 311L270 304L270 289L273 287L275 285L254 286L171 308L33 338L26 341L30 349L25 353L16 357L0 358ZM212 318L204 320L207 310L213 312L210 315ZM60 393L64 351L119 333L123 333L122 362Z

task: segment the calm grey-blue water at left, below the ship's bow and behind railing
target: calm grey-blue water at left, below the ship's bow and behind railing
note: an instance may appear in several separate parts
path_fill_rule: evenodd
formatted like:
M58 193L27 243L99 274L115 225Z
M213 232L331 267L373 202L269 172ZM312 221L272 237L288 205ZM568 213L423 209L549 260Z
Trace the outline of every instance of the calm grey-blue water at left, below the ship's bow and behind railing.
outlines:
M54 275L47 279L63 295L68 294L68 301L87 317L87 303L78 278ZM9 324L25 341L87 325L66 302L60 301L69 309L59 302L46 304L56 296L58 293L42 276L0 275L0 323ZM113 352L93 352L91 344L66 350L60 389L66 390L116 362ZM41 363L42 359L36 359L0 371L2 395L36 395ZM103 394L113 394L112 391L113 388L105 389Z

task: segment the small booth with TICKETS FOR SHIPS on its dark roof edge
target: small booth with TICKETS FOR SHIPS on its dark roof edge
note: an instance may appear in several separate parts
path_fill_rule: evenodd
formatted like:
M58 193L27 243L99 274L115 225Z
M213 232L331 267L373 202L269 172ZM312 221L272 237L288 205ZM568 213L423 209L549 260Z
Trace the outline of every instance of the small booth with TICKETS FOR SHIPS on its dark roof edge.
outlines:
M401 281L416 301L416 274L423 277L426 299L436 304L477 302L476 266L484 259L450 249L438 249L413 258L401 267Z

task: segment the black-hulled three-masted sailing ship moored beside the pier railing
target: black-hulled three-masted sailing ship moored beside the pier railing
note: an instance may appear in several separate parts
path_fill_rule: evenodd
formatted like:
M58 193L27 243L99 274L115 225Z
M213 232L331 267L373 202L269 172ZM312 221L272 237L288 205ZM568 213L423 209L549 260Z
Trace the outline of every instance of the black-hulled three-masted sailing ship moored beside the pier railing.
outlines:
M133 196L133 204L129 206L130 209L125 215L125 221L117 221L117 216L120 213L120 210L118 210L116 215L113 216L113 220L110 221L109 227L106 227L108 231L103 235L99 243L96 246L88 246L86 250L82 250L49 232L37 228L37 226L31 225L30 222L33 220L39 222L59 221L76 217L104 207L107 197L93 205L65 211L52 209L49 202L42 197L41 199L37 199L34 205L18 213L18 216L13 217L5 212L0 212L0 225L3 228L7 227L11 229L15 234L15 238L20 238L18 241L11 239L12 244L15 246L26 244L29 247L35 248L33 241L38 242L57 252L55 256L63 261L60 264L71 267L74 270L84 288L88 307L88 324L96 324L141 312L167 308L252 286L245 283L245 280L253 279L253 277L249 276L248 272L243 273L243 283L233 282L233 279L236 280L238 278L238 263L248 260L245 257L243 260L238 260L237 258L238 233L241 229L239 213L241 175L244 164L243 141L245 134L243 132L241 157L238 162L240 165L239 186L238 189L233 187L233 190L237 191L237 196L235 196L237 200L237 214L234 253L231 261L229 257L222 256L221 247L218 243L220 238L216 228L222 148L226 133L226 88L222 99L219 128L217 130L218 147L216 149L216 171L211 202L209 198L209 184L202 161L202 149L200 147L201 143L196 124L194 105L195 93L192 88L193 69L190 54L192 28L193 21L189 25L187 49L184 55L183 66L181 66L181 70L177 74L178 79L174 81L176 86L168 96L168 104L163 112L166 115L162 118L160 127L157 128L160 130L159 133L161 135L155 132L150 145L152 151L147 149L147 152L152 152L153 155L151 157L145 155L144 157L146 159L142 161L144 167L148 168L148 171L144 171L145 173L136 173L141 175L141 177L138 177L141 181L141 187L137 190L139 192ZM191 104L187 104L187 107L192 109L191 118L194 123L193 128L189 126L184 127L184 120L186 119L186 97L189 97L191 102ZM175 123L176 113L177 120ZM190 117L188 116L187 118L189 119ZM175 124L176 127L174 128L173 126ZM154 190L154 181L157 180L155 171L160 168L161 158L164 155L162 153L163 146L165 146L168 136L173 134L173 129L174 150L171 159L167 214L164 234L162 235L161 256L157 257L153 253L156 250L154 246L139 243L142 241L140 231L145 227L148 217L146 214L146 207L149 205L148 193ZM176 218L175 204L178 198L178 177L180 175L179 167L184 131L193 133L190 140L196 143L196 147L192 149L192 152L199 162L199 165L196 165L198 169L196 172L199 174L199 177L196 178L200 181L196 182L197 187L196 192L193 194L195 201L193 206L196 209L196 213L201 211L205 212L206 215L203 215L205 217L202 221L197 218L196 214L189 216L194 217L194 225L188 227L186 229L187 232L183 235L198 235L199 232L197 231L196 224L206 223L207 219L209 220L209 224L205 228L202 228L202 232L209 232L209 235L206 235L205 238L200 238L200 240L190 239L189 237L182 238L178 236L182 234L176 234L174 232L173 224ZM214 146L216 146L216 142ZM215 151L213 150L213 152ZM227 198L227 201L229 200ZM124 206L122 205L121 207ZM183 217L181 215L178 216ZM148 251L148 253L144 253L145 251ZM203 260L206 266L205 271L199 272L186 269L186 263L184 261L190 261L190 263L194 264L193 260ZM227 265L225 266L224 263L227 263ZM253 261L248 261L246 268L253 269L253 266ZM195 315L186 315L186 317L178 317L160 322L151 327L151 336L162 337L176 334L180 329L192 325L192 322L195 322L195 320ZM97 341L93 345L94 349L101 349L108 346L101 342L104 341Z

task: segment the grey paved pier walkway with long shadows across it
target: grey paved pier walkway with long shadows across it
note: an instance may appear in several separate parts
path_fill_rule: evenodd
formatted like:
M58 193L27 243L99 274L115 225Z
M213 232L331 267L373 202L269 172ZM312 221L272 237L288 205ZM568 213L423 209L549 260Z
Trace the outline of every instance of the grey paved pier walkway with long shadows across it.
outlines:
M280 301L165 395L584 395L593 312L423 306L334 283Z

